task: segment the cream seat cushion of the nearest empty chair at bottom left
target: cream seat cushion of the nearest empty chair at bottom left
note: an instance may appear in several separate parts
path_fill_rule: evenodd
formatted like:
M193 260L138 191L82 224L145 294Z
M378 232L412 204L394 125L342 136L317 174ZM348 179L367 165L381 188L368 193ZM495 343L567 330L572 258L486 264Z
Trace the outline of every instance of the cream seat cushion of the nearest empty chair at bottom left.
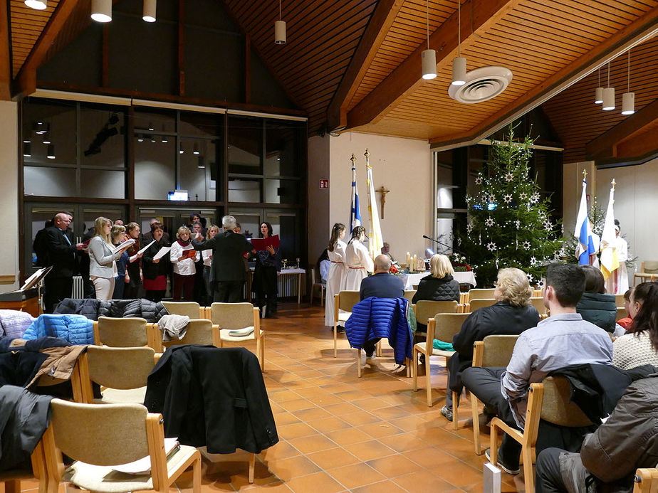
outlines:
M167 472L171 475L186 460L189 460L197 449L181 445L172 457L167 460ZM144 489L153 489L153 479L148 475L129 475L117 472L109 466L95 466L85 462L74 462L63 475L64 481L94 492L128 493Z

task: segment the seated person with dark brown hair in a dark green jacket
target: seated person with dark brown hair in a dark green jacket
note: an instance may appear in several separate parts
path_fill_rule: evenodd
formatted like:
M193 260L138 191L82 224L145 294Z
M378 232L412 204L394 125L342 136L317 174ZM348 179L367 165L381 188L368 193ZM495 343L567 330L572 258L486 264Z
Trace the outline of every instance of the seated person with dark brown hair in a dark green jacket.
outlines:
M576 312L580 313L583 320L592 322L607 332L615 332L615 295L606 294L605 279L597 267L583 265L581 268L585 272L585 292L576 306Z

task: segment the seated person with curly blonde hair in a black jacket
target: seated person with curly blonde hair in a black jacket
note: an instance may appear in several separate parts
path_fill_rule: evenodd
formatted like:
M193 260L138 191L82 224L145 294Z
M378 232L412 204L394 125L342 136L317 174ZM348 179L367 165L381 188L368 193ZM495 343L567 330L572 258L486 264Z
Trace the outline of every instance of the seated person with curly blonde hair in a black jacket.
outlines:
M439 256L445 255L434 255ZM526 329L536 327L539 323L539 313L530 303L532 295L533 289L523 270L513 267L499 270L494 290L496 304L476 309L464 321L459 334L453 337L452 346L457 352L448 361L446 405L441 410L442 415L449 421L452 420L452 391L459 395L464 388L461 372L473 362L474 342L493 334L518 335Z

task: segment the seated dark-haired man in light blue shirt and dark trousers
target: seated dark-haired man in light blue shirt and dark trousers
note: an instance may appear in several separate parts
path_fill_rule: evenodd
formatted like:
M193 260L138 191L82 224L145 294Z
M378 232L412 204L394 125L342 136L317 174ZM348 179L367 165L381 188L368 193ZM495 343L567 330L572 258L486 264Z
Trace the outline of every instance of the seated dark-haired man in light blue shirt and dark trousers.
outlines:
M471 367L464 370L461 377L464 386L489 408L495 409L508 425L523 430L531 383L541 382L548 373L565 366L609 365L612 361L610 334L583 320L576 312L576 304L584 290L585 272L578 265L548 265L543 297L550 317L518 336L506 369ZM537 452L546 446L545 443L570 438L568 433L580 430L563 431L563 437L543 437L540 426ZM489 457L489 450L485 453ZM521 445L505 434L498 449L498 467L509 474L518 474L520 453Z

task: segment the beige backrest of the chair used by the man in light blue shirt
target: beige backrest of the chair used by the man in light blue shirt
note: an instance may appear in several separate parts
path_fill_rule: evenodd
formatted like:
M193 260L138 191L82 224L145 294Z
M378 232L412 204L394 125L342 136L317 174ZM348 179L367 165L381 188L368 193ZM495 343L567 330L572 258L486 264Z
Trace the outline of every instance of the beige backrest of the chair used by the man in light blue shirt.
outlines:
M544 378L544 397L541 404L541 419L558 426L590 426L590 421L578 405L570 401L571 388L563 376Z

